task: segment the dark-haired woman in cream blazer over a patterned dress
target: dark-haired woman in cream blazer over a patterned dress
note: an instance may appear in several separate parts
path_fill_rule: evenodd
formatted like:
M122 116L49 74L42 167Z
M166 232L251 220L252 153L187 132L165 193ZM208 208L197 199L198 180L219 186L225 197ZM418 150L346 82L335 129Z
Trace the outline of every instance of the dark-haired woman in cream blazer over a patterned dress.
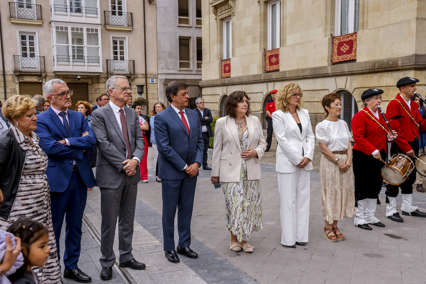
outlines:
M260 163L266 142L259 118L250 115L250 98L232 92L225 101L229 114L216 120L212 178L221 182L225 194L225 219L231 232L230 250L253 252L247 241L262 229Z

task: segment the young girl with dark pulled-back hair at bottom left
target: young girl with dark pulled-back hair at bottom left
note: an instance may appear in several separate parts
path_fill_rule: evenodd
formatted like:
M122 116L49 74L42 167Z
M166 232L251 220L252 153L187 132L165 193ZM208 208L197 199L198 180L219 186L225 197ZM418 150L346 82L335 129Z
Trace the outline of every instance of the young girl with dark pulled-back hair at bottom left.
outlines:
M37 274L32 267L44 266L49 257L50 248L47 246L49 232L42 224L22 219L12 223L7 229L15 237L21 239L23 266L8 278L16 284L39 284Z

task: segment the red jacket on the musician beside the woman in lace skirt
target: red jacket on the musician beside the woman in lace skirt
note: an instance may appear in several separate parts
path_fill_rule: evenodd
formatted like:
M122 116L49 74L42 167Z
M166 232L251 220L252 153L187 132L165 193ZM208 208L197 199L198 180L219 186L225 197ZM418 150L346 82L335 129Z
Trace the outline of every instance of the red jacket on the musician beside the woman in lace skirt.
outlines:
M388 132L389 127L382 115L379 113L377 119L366 106L352 118L352 136L355 141L353 148L366 155L371 155L374 150L381 151L383 148L387 150Z

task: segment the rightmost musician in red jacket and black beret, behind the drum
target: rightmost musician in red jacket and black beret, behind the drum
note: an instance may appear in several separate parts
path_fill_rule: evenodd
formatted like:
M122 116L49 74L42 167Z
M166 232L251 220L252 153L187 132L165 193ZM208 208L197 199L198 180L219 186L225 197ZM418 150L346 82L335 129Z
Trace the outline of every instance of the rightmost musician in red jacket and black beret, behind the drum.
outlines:
M419 127L422 131L426 130L426 123L419 112L419 106L411 101L410 97L416 91L416 83L419 80L410 77L401 78L397 83L400 93L388 104L387 114L389 118L394 115L403 115L402 118L390 122L392 129L398 132L396 143L391 147L391 155L395 153L405 153L413 157L419 154ZM400 184L402 194L402 215L412 215L416 217L426 217L426 213L420 212L417 207L412 205L413 184L416 179L416 171L413 170L406 180ZM386 186L386 197L389 203L386 206L386 217L392 221L402 222L395 219L397 214L396 200L399 189L398 186L388 184ZM387 201L387 200L386 200Z

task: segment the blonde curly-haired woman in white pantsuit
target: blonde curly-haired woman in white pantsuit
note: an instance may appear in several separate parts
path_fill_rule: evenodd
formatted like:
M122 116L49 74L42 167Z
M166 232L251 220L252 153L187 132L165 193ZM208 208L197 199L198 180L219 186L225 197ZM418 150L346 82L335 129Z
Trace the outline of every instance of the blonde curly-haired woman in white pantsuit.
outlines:
M275 96L272 113L276 149L276 172L281 199L281 244L304 246L308 241L310 173L315 137L307 109L301 109L302 90L287 83Z

